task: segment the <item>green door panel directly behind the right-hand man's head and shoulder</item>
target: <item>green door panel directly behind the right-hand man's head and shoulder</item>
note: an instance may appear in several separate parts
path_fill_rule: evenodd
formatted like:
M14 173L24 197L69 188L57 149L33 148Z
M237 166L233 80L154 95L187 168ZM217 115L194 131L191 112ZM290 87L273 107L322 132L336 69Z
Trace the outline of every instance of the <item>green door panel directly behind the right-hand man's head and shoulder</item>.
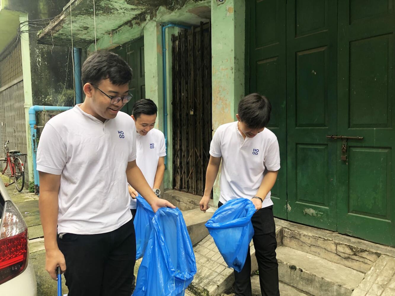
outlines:
M246 32L250 39L249 92L265 95L272 104L269 129L280 145L281 169L271 199L276 217L287 216L286 165L286 0L246 1Z

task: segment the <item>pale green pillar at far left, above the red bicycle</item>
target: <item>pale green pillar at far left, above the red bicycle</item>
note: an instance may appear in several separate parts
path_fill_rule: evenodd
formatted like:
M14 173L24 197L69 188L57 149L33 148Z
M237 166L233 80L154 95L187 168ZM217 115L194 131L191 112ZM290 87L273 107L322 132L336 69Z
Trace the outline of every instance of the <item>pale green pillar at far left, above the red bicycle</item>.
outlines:
M19 16L19 22L28 20L28 15L22 14ZM27 163L29 170L29 182L33 181L33 152L30 140L30 125L29 125L29 108L33 105L32 95L32 74L30 72L30 43L29 33L21 33L21 54L22 54L22 71L23 71L23 90L24 90L24 111L25 111L25 126L26 126L26 143L27 143Z

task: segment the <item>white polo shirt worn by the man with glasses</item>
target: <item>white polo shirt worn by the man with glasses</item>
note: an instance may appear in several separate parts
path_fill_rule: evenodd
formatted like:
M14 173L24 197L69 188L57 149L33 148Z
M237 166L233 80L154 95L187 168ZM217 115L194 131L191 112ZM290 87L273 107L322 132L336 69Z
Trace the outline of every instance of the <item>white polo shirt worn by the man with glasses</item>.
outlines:
M61 175L58 233L110 232L132 219L125 171L136 159L135 130L124 112L103 123L79 106L45 124L37 170Z

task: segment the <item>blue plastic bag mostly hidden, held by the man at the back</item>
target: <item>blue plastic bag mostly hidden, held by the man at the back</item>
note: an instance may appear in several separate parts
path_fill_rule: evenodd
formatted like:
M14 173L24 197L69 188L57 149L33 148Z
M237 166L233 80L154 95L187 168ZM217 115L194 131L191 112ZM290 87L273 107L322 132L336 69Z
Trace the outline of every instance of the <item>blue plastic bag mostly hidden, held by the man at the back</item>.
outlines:
M134 217L134 230L136 233L136 260L144 255L152 231L154 211L141 195L137 195L137 209Z

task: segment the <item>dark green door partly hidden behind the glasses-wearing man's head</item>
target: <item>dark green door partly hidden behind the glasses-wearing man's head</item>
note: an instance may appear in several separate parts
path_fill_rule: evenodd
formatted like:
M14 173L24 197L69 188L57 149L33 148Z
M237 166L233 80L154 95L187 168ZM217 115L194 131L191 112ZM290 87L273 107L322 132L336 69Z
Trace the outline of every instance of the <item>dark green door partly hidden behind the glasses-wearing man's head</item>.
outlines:
M125 43L114 52L126 60L133 70L133 78L129 84L133 98L121 109L132 115L134 103L139 99L145 99L144 38Z

